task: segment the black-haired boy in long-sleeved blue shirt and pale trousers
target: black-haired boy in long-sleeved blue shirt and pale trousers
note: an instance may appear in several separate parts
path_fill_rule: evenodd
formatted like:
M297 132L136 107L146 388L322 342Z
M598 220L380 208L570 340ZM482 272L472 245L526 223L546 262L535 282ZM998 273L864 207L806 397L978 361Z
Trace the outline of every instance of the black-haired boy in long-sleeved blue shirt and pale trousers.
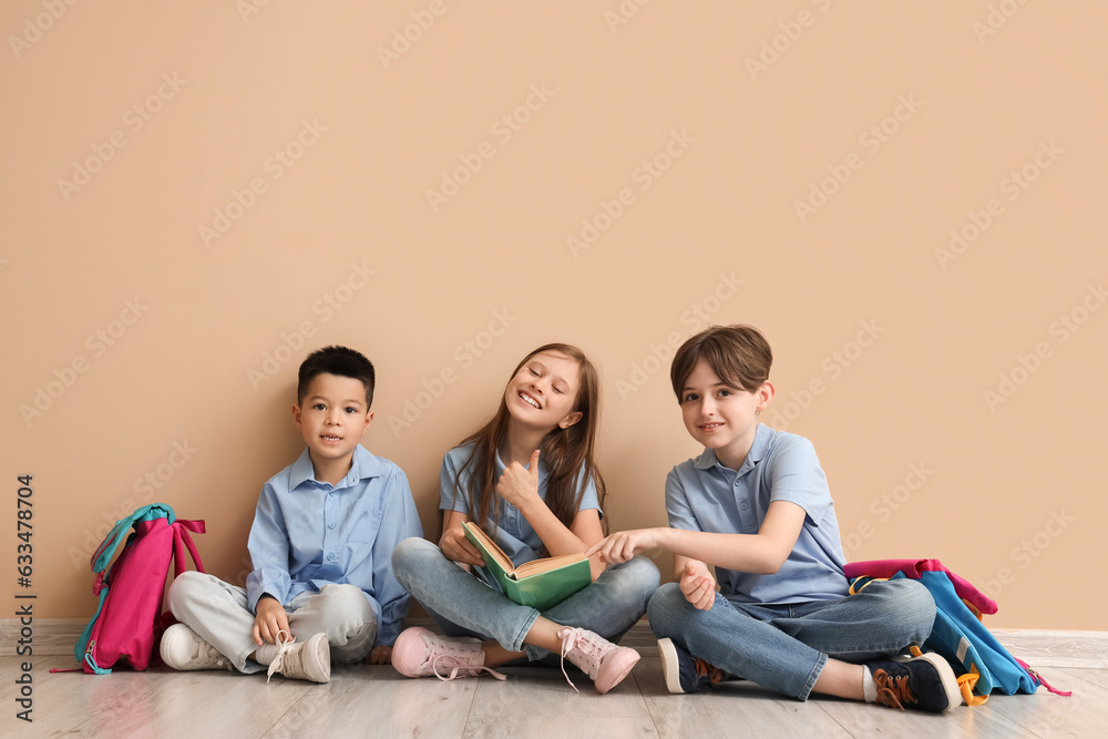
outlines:
M327 682L332 660L389 661L409 602L392 550L423 528L403 471L359 443L375 383L373 365L346 347L300 365L293 421L307 449L261 487L254 572L245 589L203 573L174 579L166 665Z

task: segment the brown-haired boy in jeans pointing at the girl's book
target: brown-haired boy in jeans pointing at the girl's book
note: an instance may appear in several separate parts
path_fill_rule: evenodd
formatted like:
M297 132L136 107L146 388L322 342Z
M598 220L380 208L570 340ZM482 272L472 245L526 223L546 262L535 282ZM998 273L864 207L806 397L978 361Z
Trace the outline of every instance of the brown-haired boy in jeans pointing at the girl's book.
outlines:
M730 675L800 700L821 692L953 708L961 694L942 657L896 656L931 635L927 588L883 581L847 596L834 502L812 443L758 422L773 399L772 361L750 326L716 326L677 350L674 392L705 450L666 479L671 527L613 534L585 554L624 562L673 552L677 582L647 608L670 692Z

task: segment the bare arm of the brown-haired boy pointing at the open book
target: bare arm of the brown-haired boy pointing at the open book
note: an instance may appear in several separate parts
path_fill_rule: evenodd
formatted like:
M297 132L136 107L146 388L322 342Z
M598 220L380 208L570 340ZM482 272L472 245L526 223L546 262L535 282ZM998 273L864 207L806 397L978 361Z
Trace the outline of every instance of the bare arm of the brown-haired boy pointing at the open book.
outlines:
M604 562L627 562L644 550L664 548L683 557L727 569L772 575L789 558L804 525L804 509L788 501L773 501L757 534L717 534L685 528L622 531L594 544L586 555L599 554Z

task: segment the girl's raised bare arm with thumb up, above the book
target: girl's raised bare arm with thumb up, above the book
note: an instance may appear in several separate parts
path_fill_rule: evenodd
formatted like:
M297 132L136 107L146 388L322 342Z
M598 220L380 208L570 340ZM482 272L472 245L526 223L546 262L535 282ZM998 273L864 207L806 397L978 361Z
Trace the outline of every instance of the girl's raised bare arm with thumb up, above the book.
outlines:
M573 517L573 523L566 527L538 496L537 449L531 455L529 469L524 469L519 462L513 462L504 470L496 483L496 493L520 510L551 556L577 554L604 538L601 514L596 509L578 511ZM598 556L591 560L589 569L595 581L606 565Z

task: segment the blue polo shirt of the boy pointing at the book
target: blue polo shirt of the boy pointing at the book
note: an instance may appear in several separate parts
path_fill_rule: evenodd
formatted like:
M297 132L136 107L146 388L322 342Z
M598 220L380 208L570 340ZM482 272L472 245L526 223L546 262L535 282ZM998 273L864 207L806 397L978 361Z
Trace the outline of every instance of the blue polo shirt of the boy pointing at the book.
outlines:
M738 471L705 449L666 478L669 525L689 531L757 534L773 501L804 510L797 545L772 575L716 567L720 593L733 603L790 604L847 595L847 563L827 476L812 442L759 424Z

